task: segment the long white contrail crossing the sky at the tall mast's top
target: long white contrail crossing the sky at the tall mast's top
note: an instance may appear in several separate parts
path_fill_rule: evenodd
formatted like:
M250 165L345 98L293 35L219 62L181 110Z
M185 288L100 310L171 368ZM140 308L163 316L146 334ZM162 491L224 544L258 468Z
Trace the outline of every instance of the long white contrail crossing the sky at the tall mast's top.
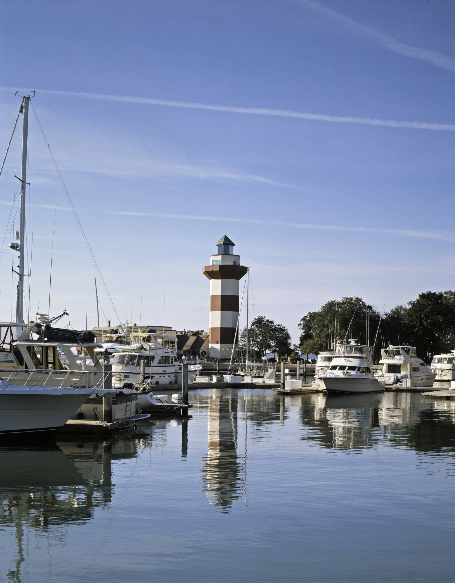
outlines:
M30 92L33 89L24 87L0 87L1 90ZM223 111L225 113L242 113L249 115L271 115L274 117L290 117L298 120L331 121L339 124L364 124L380 125L387 128L408 128L408 129L433 129L443 131L455 131L455 124L435 124L422 121L396 121L378 120L369 117L351 117L341 115L326 115L319 113L303 113L293 110L277 110L262 107L235 107L221 106L210 103L194 103L192 101L170 101L165 99L153 99L151 97L131 97L127 95L107 95L104 93L83 93L77 91L57 91L54 89L36 89L38 93L52 95L62 95L69 97L86 97L88 99L100 99L106 101L126 101L127 103L141 103L151 106L183 107L186 109Z

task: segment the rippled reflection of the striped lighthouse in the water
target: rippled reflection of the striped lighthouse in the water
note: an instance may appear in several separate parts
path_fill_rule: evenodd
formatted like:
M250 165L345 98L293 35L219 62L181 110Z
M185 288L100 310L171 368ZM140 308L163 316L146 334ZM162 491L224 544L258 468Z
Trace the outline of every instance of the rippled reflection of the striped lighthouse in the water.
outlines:
M238 500L244 483L237 452L237 392L213 389L207 413L208 451L202 467L204 490L210 504L228 511Z

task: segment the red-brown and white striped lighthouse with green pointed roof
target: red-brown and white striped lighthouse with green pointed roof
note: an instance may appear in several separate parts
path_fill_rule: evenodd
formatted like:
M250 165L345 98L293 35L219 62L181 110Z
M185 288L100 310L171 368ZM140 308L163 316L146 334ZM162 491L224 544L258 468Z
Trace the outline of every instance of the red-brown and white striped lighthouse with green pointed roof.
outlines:
M229 358L235 342L238 319L239 281L248 268L240 265L234 255L234 243L226 235L216 244L217 254L210 256L210 265L202 273L210 279L210 355Z

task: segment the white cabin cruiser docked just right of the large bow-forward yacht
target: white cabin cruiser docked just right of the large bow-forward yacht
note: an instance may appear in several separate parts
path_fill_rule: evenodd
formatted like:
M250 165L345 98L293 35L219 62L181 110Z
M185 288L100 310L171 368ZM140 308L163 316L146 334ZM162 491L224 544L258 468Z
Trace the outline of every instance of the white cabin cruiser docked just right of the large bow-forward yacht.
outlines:
M379 382L394 385L410 379L410 387L432 387L436 373L417 357L414 346L387 346L381 350L382 370L375 376ZM452 359L453 360L453 359Z

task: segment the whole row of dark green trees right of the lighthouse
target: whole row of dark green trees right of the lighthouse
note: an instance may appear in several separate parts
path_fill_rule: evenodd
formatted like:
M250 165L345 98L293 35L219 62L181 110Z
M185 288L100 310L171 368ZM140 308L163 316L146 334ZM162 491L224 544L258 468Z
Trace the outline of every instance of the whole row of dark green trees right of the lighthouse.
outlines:
M356 338L359 344L373 345L375 357L387 345L415 346L419 358L429 361L435 354L449 352L455 346L455 292L426 291L405 305L396 305L380 314L361 297L330 300L318 311L301 318L299 344L292 346L283 324L258 316L248 328L249 349L256 357L277 353L278 357L297 358L299 354L318 354L330 349L334 340ZM348 330L349 329L349 330ZM245 349L246 328L238 341Z

